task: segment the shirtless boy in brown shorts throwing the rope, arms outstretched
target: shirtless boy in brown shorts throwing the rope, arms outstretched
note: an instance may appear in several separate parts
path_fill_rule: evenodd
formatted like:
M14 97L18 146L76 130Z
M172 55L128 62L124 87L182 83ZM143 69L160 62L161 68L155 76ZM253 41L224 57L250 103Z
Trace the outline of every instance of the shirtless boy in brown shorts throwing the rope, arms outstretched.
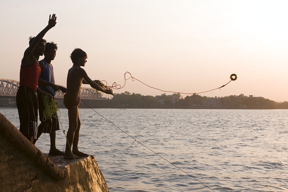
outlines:
M106 94L114 95L112 90L104 89L98 85L95 81L92 81L86 71L81 68L85 66L87 62L87 54L82 49L74 49L70 55L73 66L69 69L67 75L67 93L64 95L64 105L68 109L69 117L69 129L67 131L66 150L64 153L64 159L80 159L88 154L80 152L78 150L79 130L80 130L80 118L78 106L80 103L80 90L81 85L89 84L94 89L104 92ZM69 146L70 145L70 146ZM72 148L72 152L71 149ZM74 156L73 156L74 155Z

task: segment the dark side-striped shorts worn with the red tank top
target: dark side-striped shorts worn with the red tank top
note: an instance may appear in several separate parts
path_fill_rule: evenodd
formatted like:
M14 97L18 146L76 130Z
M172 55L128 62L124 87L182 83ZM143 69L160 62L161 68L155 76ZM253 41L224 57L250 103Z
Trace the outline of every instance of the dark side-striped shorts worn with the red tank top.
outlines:
M20 120L20 132L23 135L37 136L38 99L36 92L25 86L19 86L16 105Z

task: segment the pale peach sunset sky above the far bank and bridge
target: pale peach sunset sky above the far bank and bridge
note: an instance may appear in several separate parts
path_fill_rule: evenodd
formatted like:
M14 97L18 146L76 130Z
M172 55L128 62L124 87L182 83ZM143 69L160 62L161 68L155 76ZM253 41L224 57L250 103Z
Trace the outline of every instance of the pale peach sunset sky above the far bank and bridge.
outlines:
M74 48L87 55L91 79L124 85L130 72L164 91L262 96L288 100L288 1L118 0L2 1L0 79L19 81L28 38L57 24L44 39L57 43L52 65L56 84L66 86ZM40 57L43 59L43 57ZM84 85L82 87L89 87ZM161 95L138 81L114 93ZM185 97L185 94L182 94Z

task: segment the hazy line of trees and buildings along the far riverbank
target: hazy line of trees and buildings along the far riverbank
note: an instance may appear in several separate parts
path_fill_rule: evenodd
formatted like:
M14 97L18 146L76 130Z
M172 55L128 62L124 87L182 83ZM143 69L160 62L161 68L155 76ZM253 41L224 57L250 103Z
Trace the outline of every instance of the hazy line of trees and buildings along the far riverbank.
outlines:
M288 102L281 103L257 97L225 96L221 98L208 98L193 94L182 98L176 94L177 98L171 98L167 95L161 97L144 96L130 92L115 94L109 101L101 105L93 106L93 103L100 101L91 100L89 105L93 108L135 108L135 109L288 109ZM214 104L211 104L214 100ZM207 102L208 101L208 102ZM209 103L210 101L210 103ZM209 105L211 104L211 105ZM16 99L0 98L0 107L16 107ZM64 107L64 106L59 106ZM80 107L84 107L80 105Z

